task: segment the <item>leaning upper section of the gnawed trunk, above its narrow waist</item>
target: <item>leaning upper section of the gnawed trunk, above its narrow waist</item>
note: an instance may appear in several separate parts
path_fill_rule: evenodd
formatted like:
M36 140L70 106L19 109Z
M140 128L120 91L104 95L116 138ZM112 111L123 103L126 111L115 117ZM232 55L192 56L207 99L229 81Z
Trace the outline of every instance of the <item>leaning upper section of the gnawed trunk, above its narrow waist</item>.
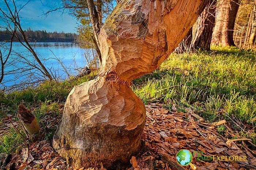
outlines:
M101 28L102 69L125 82L157 69L178 46L208 0L126 0Z

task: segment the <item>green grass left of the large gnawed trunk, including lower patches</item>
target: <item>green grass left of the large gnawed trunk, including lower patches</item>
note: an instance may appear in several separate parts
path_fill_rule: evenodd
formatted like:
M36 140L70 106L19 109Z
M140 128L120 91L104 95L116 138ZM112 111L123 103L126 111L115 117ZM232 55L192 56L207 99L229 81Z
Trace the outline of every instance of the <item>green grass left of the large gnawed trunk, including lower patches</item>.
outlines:
M51 115L59 114L59 105L65 102L71 89L78 84L86 82L95 77L95 73L82 78L64 82L45 82L37 88L28 88L22 91L14 91L10 94L0 92L0 123L3 122L5 116L13 115L15 121L17 108L19 104L25 104L26 107L33 110L42 131L46 131L46 124L42 121L46 114L52 112ZM1 124L2 126L2 124ZM3 124L4 126L4 124ZM24 131L18 128L20 133ZM52 139L56 127L46 134L45 139ZM25 134L24 134L25 136ZM26 141L20 134L12 127L7 133L0 134L0 154L13 153L24 146Z

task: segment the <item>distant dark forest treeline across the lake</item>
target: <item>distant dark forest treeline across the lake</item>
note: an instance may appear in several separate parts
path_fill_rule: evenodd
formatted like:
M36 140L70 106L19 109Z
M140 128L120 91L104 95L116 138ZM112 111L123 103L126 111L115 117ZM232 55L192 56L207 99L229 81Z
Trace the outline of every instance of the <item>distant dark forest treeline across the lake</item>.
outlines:
M46 32L45 30L33 31L30 28L24 31L29 42L65 42L78 43L78 35L76 33L64 32ZM23 40L21 33L18 32L21 40ZM0 41L9 41L12 35L7 30L0 30ZM16 38L14 41L18 41Z

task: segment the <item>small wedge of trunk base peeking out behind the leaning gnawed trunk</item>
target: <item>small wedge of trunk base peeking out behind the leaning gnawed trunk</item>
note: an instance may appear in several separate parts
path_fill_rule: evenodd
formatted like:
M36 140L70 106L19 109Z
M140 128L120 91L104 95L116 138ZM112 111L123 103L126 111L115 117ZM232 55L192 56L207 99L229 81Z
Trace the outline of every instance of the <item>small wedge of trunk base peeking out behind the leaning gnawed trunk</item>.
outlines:
M189 29L187 35L184 37L184 39L180 42L180 44L174 51L178 54L181 54L183 52L188 52L191 47L191 41L192 41L192 28Z

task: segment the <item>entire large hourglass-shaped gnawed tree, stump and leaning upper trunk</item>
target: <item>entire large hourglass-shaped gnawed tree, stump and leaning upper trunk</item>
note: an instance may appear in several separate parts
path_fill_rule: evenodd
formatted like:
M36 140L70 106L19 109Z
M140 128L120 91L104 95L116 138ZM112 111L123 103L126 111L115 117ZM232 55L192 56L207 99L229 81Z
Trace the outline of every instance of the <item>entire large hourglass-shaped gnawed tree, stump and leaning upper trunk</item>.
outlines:
M208 1L123 0L99 33L97 79L73 88L53 147L73 168L128 163L138 153L146 119L129 85L170 55ZM113 168L113 166L112 166Z

